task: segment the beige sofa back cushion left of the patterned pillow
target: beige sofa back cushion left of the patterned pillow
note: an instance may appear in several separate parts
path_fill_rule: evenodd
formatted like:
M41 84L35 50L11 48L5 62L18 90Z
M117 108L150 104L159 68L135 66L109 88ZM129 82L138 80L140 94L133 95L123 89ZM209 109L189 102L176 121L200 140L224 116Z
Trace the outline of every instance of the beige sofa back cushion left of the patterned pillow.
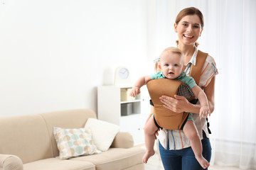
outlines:
M53 157L46 123L40 115L0 119L0 153L14 154L23 163Z

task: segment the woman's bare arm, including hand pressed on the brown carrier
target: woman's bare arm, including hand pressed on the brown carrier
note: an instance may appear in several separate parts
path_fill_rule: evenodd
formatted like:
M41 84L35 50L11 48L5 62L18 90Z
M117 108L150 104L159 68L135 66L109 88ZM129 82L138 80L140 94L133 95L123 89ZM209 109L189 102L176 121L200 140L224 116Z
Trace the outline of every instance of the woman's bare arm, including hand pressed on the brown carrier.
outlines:
M203 89L208 98L210 113L213 113L214 110L214 84L215 77L213 77L208 86ZM192 103L189 103L185 97L178 95L174 95L174 98L169 96L161 96L160 100L162 103L164 103L164 107L169 108L171 111L177 113L189 112L199 114L201 108L200 104L193 105Z

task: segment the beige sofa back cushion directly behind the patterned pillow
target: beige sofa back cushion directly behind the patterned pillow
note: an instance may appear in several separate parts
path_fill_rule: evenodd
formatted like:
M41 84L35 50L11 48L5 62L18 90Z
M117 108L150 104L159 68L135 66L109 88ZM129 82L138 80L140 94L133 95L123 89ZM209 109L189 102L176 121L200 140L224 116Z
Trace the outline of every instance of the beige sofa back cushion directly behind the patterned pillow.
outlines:
M53 157L58 157L59 151L53 136L53 127L84 128L88 118L96 118L96 113L90 109L74 109L40 114L46 121L50 140L53 146Z

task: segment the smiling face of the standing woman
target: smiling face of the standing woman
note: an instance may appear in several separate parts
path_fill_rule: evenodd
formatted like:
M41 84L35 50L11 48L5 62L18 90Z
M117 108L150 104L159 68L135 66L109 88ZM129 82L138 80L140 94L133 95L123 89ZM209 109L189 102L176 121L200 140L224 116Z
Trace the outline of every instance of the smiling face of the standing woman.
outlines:
M200 18L195 14L184 16L178 25L174 23L174 30L178 34L178 43L193 45L201 35L203 28L201 28Z

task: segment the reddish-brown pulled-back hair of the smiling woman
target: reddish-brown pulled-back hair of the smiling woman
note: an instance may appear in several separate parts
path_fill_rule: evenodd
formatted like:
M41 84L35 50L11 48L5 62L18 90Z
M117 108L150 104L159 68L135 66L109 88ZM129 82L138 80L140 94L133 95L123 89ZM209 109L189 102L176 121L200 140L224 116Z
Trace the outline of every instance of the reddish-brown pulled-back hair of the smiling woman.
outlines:
M203 28L203 13L201 13L201 11L198 8L195 7L188 7L188 8L183 8L183 10L181 10L178 13L178 16L176 17L175 23L178 25L179 21L181 21L181 19L184 16L192 16L192 15L197 15L201 21L201 28ZM178 45L178 41L176 41L177 45ZM198 42L196 42L196 47L198 46Z

